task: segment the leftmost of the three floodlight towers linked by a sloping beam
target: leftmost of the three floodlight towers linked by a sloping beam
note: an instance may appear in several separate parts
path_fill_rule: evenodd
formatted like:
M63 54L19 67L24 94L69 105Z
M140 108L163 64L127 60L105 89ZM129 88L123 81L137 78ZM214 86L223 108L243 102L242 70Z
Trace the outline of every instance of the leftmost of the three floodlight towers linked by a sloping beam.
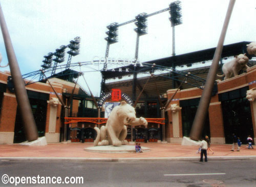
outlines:
M109 57L110 45L118 42L118 23L117 22L111 23L110 25L106 26L106 28L108 28L109 31L106 32L108 37L105 38L107 43L106 43L105 63L104 63L103 70L106 70L107 68L107 58ZM101 78L101 84L100 84L101 85L100 96L102 96L105 92L105 81L106 81L105 77L102 74L101 76L102 78Z

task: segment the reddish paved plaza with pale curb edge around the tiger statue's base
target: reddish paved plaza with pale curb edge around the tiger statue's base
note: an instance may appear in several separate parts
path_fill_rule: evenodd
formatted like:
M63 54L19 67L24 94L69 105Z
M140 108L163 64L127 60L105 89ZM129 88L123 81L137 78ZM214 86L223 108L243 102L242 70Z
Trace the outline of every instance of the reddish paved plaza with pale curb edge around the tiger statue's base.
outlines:
M22 146L19 144L0 145L0 159L78 159L86 161L125 161L125 160L181 160L199 159L196 153L198 146L182 146L173 143L141 143L151 151L143 153L96 153L85 151L93 143L56 143L47 146ZM214 154L209 152L210 159L256 159L256 147L247 149L242 145L240 151L230 151L231 145L211 144Z

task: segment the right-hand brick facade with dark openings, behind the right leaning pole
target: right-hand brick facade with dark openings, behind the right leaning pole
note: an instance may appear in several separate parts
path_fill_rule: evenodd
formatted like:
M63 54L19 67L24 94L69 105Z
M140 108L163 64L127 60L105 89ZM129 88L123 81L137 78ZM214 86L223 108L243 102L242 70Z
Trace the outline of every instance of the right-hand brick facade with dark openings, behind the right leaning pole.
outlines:
M253 66L247 70L247 73L225 81L217 81L218 93L211 97L202 135L209 136L211 143L231 143L232 133L240 136L243 143L246 143L245 139L248 135L256 140L256 101L250 102L245 98L247 90L256 88L255 77L256 66ZM172 97L175 91L176 89L168 90L167 97ZM203 90L199 88L177 92L170 104L178 104L182 109L178 111L178 116L168 111L168 124L166 125L168 142L181 142L183 136L189 135L185 132L187 129L184 126L187 122L188 128L191 128L193 119L188 122L185 117L193 113L194 107L197 108L202 92ZM189 112L186 113L185 110ZM174 131L178 131L179 136L174 136Z

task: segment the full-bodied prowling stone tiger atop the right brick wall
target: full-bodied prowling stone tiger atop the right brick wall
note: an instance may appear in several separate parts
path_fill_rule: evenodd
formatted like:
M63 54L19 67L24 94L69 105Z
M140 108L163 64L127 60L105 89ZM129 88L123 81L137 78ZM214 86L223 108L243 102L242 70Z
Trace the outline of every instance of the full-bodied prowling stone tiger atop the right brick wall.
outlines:
M223 74L222 75L217 74L217 76L219 77L225 76L224 80L230 78L232 74L234 74L234 76L237 76L240 70L247 70L249 68L246 65L248 61L249 61L249 58L245 56L245 54L234 56L233 60L223 64L222 66Z

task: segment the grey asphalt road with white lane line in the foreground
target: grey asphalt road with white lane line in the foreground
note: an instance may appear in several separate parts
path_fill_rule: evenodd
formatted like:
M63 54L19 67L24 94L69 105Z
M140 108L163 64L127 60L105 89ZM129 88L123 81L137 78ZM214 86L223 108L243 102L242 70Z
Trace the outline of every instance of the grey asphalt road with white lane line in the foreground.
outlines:
M7 180L7 175L9 181L4 184L3 180ZM15 186L16 182L16 186L255 187L255 175L256 159L222 159L207 163L0 160L0 186ZM66 177L69 178L64 181ZM82 177L80 182L83 184L71 184L76 179L79 182L79 178L76 177ZM32 184L22 184L26 182L25 179ZM39 184L47 180L48 184Z

